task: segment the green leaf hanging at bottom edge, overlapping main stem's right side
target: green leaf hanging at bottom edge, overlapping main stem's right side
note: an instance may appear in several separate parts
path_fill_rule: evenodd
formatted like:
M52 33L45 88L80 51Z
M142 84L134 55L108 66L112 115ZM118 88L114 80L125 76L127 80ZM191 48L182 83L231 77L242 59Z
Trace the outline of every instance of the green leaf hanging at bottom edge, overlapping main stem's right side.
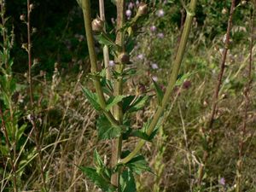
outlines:
M121 192L136 192L136 183L131 170L125 170L120 175Z

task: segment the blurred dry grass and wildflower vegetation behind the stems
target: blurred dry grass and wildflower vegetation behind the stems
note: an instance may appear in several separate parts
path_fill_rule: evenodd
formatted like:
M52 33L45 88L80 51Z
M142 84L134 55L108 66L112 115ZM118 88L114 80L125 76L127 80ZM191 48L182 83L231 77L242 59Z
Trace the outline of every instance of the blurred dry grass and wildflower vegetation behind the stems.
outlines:
M95 18L98 4L91 2ZM98 191L77 167L92 165L95 148L106 164L106 154L111 153L111 143L97 139L98 116L81 90L81 84L94 89L87 75L90 61L82 10L76 1L31 2L31 103L27 28L20 20L20 15L27 19L26 3L1 0L0 189L13 191L16 185L19 191ZM131 9L129 3L127 9ZM235 191L240 175L241 191L256 191L255 61L251 72L248 67L256 53L253 3L236 1L216 118L212 131L206 131L231 1L199 1L180 71L186 79L173 91L157 137L144 147L143 154L155 174L138 175L137 191ZM151 79L165 90L176 55L185 18L180 1L152 1L150 6L134 42L131 61L138 75L125 85L127 94L153 93ZM105 9L112 28L115 6L106 1ZM126 15L129 20L131 16ZM100 44L96 51L102 59ZM156 105L152 99L134 116L133 129L151 117ZM137 138L132 138L123 148L133 148L135 143ZM204 162L206 148L209 154ZM206 170L198 188L202 163Z

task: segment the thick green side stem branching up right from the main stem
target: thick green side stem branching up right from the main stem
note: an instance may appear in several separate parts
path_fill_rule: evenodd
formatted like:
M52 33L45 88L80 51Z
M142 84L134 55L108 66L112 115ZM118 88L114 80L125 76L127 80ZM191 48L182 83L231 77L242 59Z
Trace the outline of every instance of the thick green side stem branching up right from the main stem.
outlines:
M187 10L187 17L186 17L186 20L184 23L182 37L181 37L181 40L180 40L180 43L179 43L179 46L177 49L177 56L173 63L172 73L171 73L171 76L170 76L170 79L169 79L169 82L167 85L167 90L163 97L161 106L157 109L156 113L154 113L153 120L151 121L151 123L148 127L148 131L147 131L148 135L150 135L154 131L154 127L158 124L160 117L164 113L166 106L168 104L168 101L171 97L172 90L176 84L177 74L178 74L179 68L181 66L181 62L183 60L183 55L184 55L184 52L186 49L186 44L189 39L189 32L190 32L190 29L192 26L193 17L195 15L195 7L196 7L196 0L191 0L190 5L189 5L189 10ZM143 148L144 143L145 143L144 140L140 140L139 143L137 143L136 148L134 148L133 151L131 152L131 154L126 156L124 159L120 160L120 163L125 164L128 161L130 161L139 152L139 150L141 148Z

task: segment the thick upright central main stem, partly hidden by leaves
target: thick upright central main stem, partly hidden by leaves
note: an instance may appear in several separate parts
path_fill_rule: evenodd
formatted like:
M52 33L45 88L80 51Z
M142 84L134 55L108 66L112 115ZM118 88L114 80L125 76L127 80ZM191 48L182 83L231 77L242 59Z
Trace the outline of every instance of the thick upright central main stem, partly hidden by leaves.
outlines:
M116 34L116 40L115 44L119 45L119 47L124 51L124 32L122 32L120 29L125 24L125 0L118 0L117 1L117 34ZM115 61L118 61L118 58L115 57ZM123 72L124 65L123 63L120 63L119 65L115 66L115 71L118 73ZM114 81L114 90L113 95L119 96L123 94L123 79L115 79ZM115 105L113 107L113 116L115 119L119 121L120 124L123 123L123 112L122 108L119 107L119 105ZM121 155L121 149L122 149L122 135L116 139L113 140L112 145L112 157L111 157L111 165L112 167L115 167L120 159ZM114 173L111 176L111 183L118 188L119 191L119 171Z

